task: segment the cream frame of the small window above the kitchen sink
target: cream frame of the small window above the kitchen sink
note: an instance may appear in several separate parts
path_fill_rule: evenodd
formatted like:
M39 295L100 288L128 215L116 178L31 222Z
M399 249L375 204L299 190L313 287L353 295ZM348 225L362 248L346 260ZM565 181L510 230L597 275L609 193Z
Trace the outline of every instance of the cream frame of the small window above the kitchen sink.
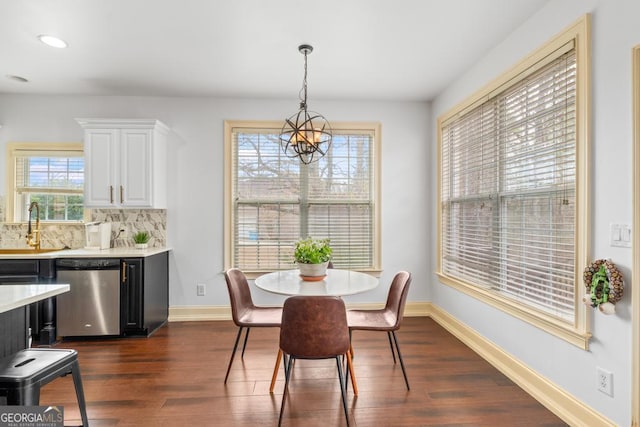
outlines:
M6 218L5 221L7 223L14 224L23 224L26 223L27 220L22 220L17 218L16 212L16 157L17 154L24 154L27 152L33 152L34 155L37 153L42 157L53 157L47 156L47 153L60 153L60 152L74 152L79 153L80 156L84 158L84 145L81 142L10 142L7 144L6 151L6 164L7 164L7 175L6 175ZM86 171L85 171L86 175ZM86 176L85 176L86 179ZM84 194L84 191L83 191ZM89 210L86 207L83 207L83 215L81 220L43 220L40 219L41 222L46 224L79 224L82 222L86 222L89 220Z

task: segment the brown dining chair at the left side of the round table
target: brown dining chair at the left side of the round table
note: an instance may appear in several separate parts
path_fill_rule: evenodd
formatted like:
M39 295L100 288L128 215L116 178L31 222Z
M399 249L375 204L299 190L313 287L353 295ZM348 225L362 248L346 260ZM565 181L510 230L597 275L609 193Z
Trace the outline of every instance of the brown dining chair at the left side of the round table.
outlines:
M253 304L251 298L251 290L249 289L249 283L244 273L237 268L230 268L224 273L224 278L227 281L227 289L229 290L229 299L231 300L231 315L233 317L233 323L238 326L238 335L236 336L236 342L233 345L233 351L231 352L231 359L229 360L229 366L227 367L227 374L224 377L224 383L227 383L229 378L229 372L231 371L231 365L238 349L238 342L240 342L240 336L242 330L247 329L244 335L244 344L242 346L242 355L244 357L244 350L247 347L247 340L249 339L249 331L251 328L265 328L265 327L279 327L280 319L282 318L281 307L258 307Z

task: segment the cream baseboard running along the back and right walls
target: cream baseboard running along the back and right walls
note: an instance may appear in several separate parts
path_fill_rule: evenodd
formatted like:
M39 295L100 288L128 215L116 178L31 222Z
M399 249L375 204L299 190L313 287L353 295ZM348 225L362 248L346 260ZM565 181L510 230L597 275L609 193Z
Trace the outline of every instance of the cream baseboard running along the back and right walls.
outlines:
M376 309L381 304L349 304L347 308ZM614 427L615 423L542 377L520 360L488 341L458 319L428 302L407 302L406 317L428 316L491 363L511 381L572 426ZM169 322L231 320L228 306L170 307Z

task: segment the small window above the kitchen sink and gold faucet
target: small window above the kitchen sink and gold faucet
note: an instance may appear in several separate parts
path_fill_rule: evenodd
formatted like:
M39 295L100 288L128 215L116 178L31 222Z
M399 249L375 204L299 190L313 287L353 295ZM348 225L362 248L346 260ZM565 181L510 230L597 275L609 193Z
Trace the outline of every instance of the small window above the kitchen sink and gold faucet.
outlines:
M12 143L8 153L14 221L28 220L31 202L38 202L41 221L84 219L82 144Z

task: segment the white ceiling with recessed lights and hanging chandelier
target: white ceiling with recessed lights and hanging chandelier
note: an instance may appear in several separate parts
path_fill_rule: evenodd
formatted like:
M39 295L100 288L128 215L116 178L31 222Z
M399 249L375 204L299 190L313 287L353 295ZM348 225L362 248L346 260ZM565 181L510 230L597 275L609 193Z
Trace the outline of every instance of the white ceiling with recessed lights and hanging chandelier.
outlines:
M0 93L430 100L547 1L0 0Z

